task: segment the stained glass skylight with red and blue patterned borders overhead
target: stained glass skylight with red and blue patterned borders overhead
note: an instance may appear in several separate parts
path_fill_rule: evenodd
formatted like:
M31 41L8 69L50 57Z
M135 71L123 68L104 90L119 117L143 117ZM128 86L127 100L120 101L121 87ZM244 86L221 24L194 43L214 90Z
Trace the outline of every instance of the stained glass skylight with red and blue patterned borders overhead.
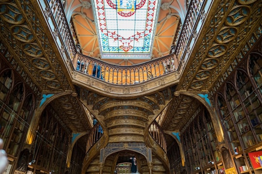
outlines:
M102 58L150 58L158 0L94 0Z

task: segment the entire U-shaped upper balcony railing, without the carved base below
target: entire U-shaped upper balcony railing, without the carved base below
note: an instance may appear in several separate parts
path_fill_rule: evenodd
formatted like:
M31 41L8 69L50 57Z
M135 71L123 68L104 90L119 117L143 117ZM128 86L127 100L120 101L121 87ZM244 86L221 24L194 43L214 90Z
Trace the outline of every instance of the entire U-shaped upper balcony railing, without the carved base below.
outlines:
M39 0L47 18L47 12L51 13L52 24L50 24L50 26L54 26L55 29L53 33L57 32L57 34L54 35L59 37L57 42L61 42L61 47L65 48L64 50L67 53L68 59L72 61L74 68L106 82L119 85L130 85L144 82L167 72L178 70L180 62L186 55L186 48L190 43L194 42L192 35L194 35L194 31L196 32L196 29L198 29L197 26L199 25L201 18L200 11L204 8L204 2L206 1L191 0L183 26L181 27L180 24L180 29L174 40L175 44L172 48L172 53L175 55L169 55L164 58L148 61L141 65L120 67L81 54L77 55L76 43L72 37L71 28L67 23L68 20L66 19L61 0ZM47 21L50 23L50 20Z

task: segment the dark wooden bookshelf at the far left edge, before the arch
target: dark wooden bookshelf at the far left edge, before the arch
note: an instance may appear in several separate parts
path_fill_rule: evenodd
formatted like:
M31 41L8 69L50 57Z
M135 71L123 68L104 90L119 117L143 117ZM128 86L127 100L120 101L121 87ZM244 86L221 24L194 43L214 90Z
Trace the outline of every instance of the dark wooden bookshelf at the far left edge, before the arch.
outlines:
M0 135L4 141L4 149L10 159L15 160L23 145L25 129L29 125L33 94L27 95L31 96L30 100L24 99L29 90L24 89L21 80L13 77L11 70L0 74ZM23 106L21 103L24 103Z

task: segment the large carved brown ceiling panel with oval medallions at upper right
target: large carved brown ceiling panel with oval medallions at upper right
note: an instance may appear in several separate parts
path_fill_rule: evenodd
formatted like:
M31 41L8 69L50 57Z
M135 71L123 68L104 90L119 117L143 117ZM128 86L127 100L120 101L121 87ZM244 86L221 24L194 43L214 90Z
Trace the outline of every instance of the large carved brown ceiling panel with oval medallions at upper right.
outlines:
M260 37L261 20L260 0L215 1L178 89L210 91L224 81Z

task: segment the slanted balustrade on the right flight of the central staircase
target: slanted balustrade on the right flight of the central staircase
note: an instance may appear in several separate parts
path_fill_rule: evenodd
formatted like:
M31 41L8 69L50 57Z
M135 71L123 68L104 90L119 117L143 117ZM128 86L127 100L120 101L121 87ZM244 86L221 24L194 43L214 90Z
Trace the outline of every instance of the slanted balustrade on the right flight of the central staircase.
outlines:
M154 121L149 127L149 134L164 149L166 153L167 151L164 132L156 121Z

